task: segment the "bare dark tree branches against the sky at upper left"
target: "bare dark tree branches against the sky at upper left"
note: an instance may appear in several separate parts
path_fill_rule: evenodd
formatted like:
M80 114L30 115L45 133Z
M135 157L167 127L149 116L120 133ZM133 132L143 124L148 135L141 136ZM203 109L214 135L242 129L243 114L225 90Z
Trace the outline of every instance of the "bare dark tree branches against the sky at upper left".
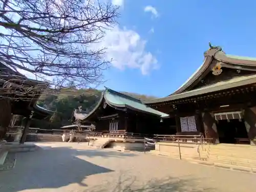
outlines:
M0 60L57 87L98 85L111 60L97 44L117 11L92 0L0 0Z

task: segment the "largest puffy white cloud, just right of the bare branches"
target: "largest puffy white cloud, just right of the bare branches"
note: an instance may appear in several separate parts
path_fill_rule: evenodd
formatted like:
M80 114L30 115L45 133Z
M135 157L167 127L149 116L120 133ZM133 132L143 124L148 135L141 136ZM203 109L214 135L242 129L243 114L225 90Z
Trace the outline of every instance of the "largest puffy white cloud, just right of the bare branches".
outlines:
M107 48L106 59L113 59L113 67L140 69L143 75L158 68L156 57L145 50L145 45L146 41L137 32L118 26L106 31L101 42L101 46Z

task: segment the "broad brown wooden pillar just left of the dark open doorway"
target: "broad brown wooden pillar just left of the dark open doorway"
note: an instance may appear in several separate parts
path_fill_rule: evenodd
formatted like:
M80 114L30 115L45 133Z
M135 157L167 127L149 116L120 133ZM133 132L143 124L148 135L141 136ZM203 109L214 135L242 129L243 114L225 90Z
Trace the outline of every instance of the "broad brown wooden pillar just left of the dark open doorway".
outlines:
M210 112L203 112L202 119L206 138L212 138L214 143L220 143L214 115Z

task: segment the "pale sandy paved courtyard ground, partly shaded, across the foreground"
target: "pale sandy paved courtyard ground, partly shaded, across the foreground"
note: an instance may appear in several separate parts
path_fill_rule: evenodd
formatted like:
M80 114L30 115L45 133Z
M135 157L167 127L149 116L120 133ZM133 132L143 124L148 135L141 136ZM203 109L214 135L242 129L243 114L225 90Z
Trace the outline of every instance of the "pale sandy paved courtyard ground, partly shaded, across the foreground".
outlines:
M256 174L143 153L89 148L80 143L39 143L17 154L16 166L0 172L0 191L254 191Z

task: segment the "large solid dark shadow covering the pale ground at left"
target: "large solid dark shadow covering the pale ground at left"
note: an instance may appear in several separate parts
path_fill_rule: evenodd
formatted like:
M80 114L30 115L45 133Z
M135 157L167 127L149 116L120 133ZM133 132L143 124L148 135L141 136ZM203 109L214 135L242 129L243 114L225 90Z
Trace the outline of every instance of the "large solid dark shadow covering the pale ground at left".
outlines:
M71 183L87 186L82 181L90 175L113 172L77 155L116 156L111 151L82 152L68 147L18 153L14 169L0 172L0 191L16 192L25 189L58 188Z

